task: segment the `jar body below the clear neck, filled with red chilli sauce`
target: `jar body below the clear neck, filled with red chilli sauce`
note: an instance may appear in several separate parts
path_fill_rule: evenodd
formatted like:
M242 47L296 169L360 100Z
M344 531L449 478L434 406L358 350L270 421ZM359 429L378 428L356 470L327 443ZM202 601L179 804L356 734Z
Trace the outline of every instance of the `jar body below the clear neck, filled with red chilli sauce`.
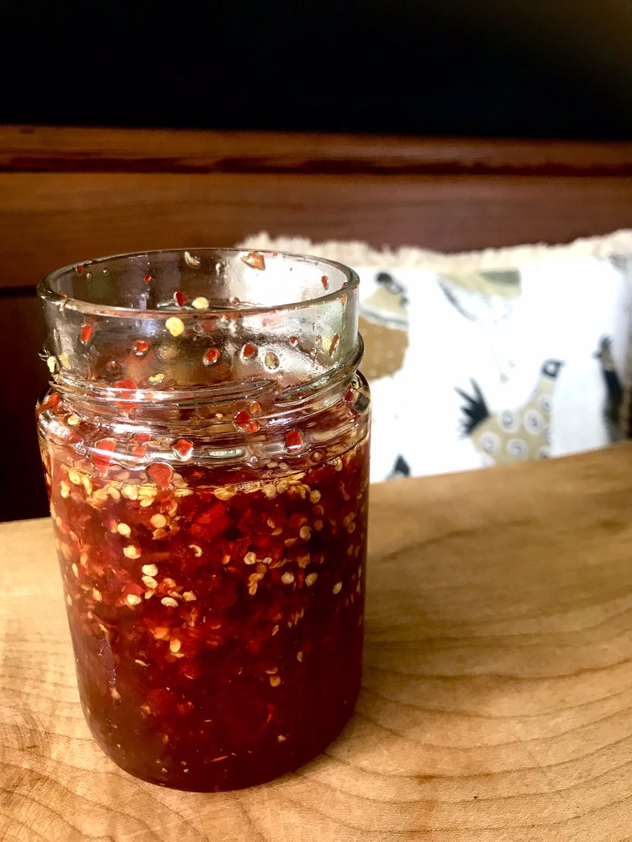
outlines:
M203 405L195 424L171 410L153 424L116 397L92 414L53 391L39 415L89 727L163 786L268 781L340 733L360 686L366 382L300 424L258 421L250 401L230 435Z

